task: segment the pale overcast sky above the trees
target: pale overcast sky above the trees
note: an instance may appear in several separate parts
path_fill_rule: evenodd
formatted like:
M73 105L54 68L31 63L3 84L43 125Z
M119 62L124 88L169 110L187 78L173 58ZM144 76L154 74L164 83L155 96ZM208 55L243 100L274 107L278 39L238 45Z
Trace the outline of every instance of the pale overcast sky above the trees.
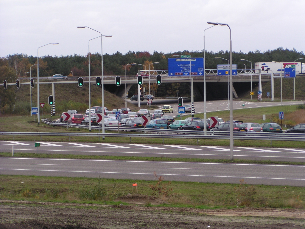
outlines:
M0 57L86 55L103 35L103 53L203 50L206 22L228 24L232 50L305 51L304 0L0 0ZM208 51L229 50L227 26L205 32ZM100 38L90 52L101 52Z

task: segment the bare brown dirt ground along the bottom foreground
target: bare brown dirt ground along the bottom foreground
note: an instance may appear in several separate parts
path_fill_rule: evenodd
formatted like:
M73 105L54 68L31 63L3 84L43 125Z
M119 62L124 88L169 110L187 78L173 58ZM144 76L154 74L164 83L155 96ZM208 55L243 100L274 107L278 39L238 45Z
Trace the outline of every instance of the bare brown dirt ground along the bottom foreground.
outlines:
M120 198L131 205L93 205L0 200L1 229L97 228L305 228L303 209L203 210L154 207L161 200ZM146 207L147 200L152 205Z

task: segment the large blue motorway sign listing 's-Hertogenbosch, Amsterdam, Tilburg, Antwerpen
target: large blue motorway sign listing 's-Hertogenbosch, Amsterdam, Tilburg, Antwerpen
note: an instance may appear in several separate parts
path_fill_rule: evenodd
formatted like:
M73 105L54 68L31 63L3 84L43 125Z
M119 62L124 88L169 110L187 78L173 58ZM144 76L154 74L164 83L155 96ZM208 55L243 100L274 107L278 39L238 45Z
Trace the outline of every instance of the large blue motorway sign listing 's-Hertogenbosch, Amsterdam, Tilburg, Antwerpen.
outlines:
M190 63L192 76L203 75L203 58L168 58L168 76L189 76Z

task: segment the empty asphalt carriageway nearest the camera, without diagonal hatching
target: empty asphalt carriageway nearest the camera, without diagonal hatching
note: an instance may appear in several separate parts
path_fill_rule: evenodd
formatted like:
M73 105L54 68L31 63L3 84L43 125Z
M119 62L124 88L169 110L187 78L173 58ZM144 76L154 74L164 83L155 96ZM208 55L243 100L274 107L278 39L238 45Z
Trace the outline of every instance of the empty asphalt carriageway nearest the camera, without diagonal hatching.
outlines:
M303 165L0 158L0 173L11 175L102 177L305 186Z

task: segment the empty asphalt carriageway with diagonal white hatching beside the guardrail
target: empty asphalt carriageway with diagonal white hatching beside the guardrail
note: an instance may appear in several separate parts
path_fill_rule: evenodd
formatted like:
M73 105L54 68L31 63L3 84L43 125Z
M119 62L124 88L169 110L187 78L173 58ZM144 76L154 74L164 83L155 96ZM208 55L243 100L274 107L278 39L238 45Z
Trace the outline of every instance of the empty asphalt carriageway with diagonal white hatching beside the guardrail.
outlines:
M106 144L40 142L38 153L230 159L229 147L149 145L149 144ZM0 152L37 153L35 142L1 141ZM234 147L234 158L244 160L271 160L305 162L305 150L283 148Z

